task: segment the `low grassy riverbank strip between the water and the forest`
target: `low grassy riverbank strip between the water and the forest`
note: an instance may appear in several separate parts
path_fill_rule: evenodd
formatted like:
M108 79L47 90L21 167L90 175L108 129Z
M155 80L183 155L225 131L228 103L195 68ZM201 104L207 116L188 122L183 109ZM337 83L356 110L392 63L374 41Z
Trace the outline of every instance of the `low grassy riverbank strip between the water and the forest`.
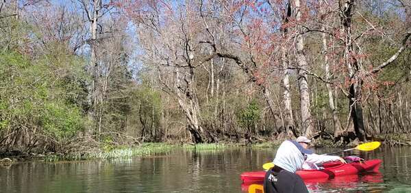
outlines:
M388 146L411 146L411 137L408 135L385 135L373 138L382 142L382 145ZM10 151L0 153L0 164L12 164L14 162L23 162L27 160L36 160L40 162L59 162L59 161L78 161L78 160L107 160L112 158L131 158L131 157L146 157L156 155L158 153L168 153L173 149L191 149L195 151L216 151L219 149L227 149L230 147L252 147L252 148L271 148L276 147L282 140L266 140L258 143L142 143L134 147L115 146L101 147L86 152L75 153L23 153L21 151ZM329 139L316 139L313 141L313 147L352 147L356 146L356 142L349 145L341 146ZM11 162L10 162L11 160Z

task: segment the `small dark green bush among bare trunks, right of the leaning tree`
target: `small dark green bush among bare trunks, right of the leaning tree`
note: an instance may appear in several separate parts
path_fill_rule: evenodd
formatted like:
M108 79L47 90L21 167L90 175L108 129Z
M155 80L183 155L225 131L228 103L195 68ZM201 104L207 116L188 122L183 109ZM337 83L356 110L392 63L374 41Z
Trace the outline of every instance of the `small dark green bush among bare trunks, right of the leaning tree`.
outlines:
M245 108L242 108L237 113L238 123L242 127L250 128L251 125L260 120L261 110L256 100L252 100Z

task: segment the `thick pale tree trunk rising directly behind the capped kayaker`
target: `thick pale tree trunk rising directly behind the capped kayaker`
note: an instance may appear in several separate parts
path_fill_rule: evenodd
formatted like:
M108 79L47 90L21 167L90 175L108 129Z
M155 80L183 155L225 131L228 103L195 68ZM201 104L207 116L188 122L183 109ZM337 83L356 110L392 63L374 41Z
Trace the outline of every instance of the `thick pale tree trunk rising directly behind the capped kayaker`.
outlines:
M297 23L301 21L301 5L300 0L295 0L295 18ZM301 34L295 38L295 48L297 49L297 65L298 83L300 92L300 108L301 108L301 129L305 131L306 136L310 137L314 134L314 125L310 112L310 88L308 87L308 63L304 53L304 39Z

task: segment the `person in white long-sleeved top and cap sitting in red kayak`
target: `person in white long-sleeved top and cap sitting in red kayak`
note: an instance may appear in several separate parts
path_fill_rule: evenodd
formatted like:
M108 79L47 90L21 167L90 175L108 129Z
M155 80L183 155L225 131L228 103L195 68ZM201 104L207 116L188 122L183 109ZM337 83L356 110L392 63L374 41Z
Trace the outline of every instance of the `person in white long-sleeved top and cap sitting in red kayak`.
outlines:
M299 136L296 140L304 149L308 149L310 147L311 140L306 138L305 136ZM332 161L341 161L344 164L345 160L340 158L339 156L334 155L319 155L316 153L312 153L307 156L306 161L303 163L304 170L319 170L321 169L317 164L323 164L325 162L332 162Z

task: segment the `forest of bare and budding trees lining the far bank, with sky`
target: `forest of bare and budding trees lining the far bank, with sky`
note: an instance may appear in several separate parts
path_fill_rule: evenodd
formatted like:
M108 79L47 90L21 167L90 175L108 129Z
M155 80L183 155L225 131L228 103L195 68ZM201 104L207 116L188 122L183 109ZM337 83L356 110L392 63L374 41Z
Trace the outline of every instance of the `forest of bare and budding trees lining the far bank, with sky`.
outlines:
M406 145L410 36L410 0L3 0L0 153Z

